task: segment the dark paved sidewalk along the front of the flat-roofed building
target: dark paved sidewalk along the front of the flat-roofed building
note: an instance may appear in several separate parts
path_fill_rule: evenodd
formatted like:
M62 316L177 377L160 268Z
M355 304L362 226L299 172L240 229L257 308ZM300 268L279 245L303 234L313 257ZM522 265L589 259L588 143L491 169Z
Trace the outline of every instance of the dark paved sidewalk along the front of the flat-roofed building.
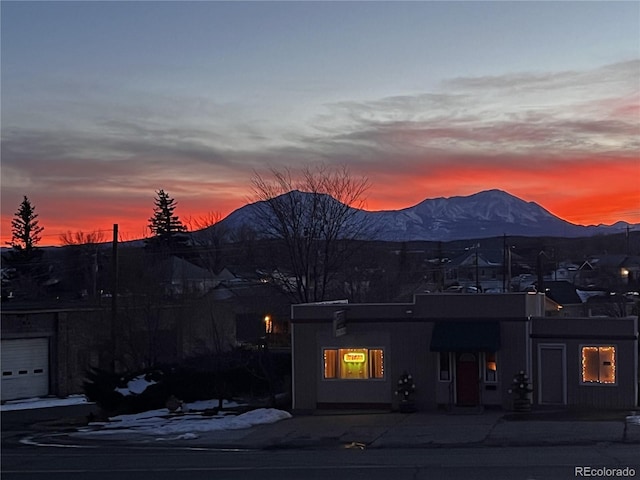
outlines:
M540 419L502 411L481 414L322 412L296 415L267 425L192 436L158 437L113 433L88 438L70 433L68 441L175 444L233 449L416 448L458 446L640 444L640 424L618 419Z

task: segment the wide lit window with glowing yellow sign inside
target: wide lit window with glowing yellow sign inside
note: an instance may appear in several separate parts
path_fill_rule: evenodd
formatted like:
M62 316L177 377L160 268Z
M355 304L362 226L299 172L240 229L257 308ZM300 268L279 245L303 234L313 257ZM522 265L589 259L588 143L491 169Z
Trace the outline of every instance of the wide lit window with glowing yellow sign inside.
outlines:
M368 348L325 348L324 378L366 380L384 378L384 351Z

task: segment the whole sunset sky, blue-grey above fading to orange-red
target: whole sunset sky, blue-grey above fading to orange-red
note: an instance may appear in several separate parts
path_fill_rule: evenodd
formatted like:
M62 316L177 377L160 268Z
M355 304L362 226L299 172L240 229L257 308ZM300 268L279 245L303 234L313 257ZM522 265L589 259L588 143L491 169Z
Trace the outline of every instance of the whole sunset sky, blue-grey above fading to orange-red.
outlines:
M367 209L501 189L640 223L640 3L3 0L2 244L225 216L254 171L346 164Z

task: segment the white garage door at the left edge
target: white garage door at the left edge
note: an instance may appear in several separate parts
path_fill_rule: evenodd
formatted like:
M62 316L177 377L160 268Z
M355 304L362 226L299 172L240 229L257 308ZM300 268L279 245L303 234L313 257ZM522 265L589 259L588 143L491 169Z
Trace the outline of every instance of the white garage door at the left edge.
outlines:
M2 400L49 394L49 339L2 340Z

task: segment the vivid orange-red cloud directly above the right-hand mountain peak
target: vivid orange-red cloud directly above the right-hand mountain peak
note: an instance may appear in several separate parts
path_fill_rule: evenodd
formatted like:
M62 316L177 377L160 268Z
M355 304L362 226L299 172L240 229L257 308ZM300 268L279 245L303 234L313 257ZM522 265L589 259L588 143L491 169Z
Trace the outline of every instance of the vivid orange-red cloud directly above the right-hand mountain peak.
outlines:
M537 165L532 168L531 164ZM517 165L446 164L413 171L372 174L369 210L399 209L425 198L470 195L498 188L533 201L569 222L640 223L640 160L576 158Z

